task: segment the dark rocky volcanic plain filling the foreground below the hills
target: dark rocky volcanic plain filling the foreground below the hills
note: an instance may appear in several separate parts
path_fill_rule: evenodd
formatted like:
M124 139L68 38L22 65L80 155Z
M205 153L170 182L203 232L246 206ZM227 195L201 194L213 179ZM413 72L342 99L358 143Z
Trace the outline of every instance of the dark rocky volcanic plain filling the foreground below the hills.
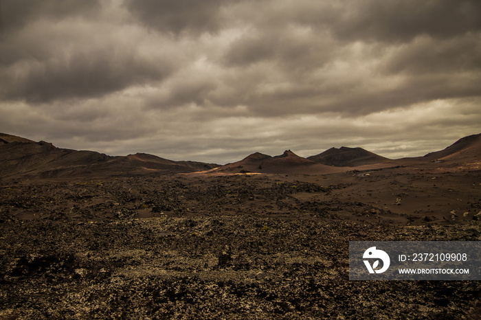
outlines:
M479 319L479 282L348 277L352 240L481 240L477 143L326 174L2 176L0 319Z

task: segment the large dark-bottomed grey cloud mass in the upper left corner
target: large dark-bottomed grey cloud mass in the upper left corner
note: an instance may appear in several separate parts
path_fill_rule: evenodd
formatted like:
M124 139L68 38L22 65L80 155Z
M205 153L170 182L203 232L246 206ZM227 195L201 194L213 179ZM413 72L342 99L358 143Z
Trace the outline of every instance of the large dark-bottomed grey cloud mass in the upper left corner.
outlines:
M161 81L175 62L124 41L123 25L109 25L99 1L4 1L0 98L49 102L94 98ZM103 20L93 19L103 14ZM82 19L78 19L82 16ZM161 54L160 54L161 55Z

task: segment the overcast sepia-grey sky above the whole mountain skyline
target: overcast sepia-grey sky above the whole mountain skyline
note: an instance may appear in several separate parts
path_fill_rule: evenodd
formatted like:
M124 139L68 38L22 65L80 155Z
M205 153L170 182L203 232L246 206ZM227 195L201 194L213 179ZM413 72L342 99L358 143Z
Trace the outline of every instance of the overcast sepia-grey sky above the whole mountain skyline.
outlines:
M0 132L108 155L417 157L481 133L481 1L0 0Z

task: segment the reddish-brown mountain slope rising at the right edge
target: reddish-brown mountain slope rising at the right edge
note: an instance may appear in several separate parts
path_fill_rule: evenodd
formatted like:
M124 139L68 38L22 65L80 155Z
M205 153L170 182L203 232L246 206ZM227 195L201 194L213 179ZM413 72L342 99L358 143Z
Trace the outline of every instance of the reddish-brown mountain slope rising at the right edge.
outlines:
M471 157L481 157L481 133L461 138L443 150L428 153L423 159L434 161Z

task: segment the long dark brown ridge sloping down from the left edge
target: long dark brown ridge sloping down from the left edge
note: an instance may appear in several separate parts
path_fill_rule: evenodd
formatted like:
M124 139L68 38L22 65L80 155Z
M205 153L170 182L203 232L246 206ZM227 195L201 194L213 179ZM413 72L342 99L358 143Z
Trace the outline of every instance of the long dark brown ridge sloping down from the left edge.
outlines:
M154 172L194 172L216 166L194 161L172 161L142 153L111 157L95 151L56 148L45 141L34 142L5 134L0 134L0 139L1 178L132 176Z

